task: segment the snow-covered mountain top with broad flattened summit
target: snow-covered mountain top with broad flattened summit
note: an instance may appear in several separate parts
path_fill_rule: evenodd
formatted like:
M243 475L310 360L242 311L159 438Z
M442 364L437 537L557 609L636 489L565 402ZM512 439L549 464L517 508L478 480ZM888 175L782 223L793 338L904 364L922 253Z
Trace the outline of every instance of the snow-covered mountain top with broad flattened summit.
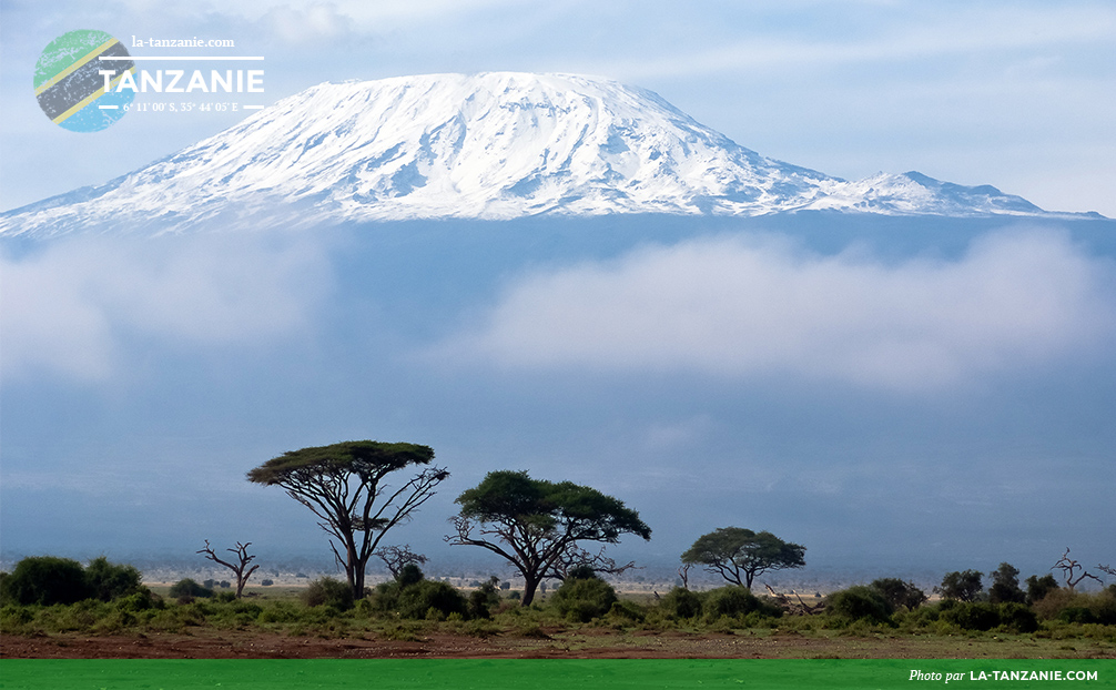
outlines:
M799 210L1045 214L992 186L846 182L775 161L615 82L490 73L320 84L104 185L0 214L0 233Z

